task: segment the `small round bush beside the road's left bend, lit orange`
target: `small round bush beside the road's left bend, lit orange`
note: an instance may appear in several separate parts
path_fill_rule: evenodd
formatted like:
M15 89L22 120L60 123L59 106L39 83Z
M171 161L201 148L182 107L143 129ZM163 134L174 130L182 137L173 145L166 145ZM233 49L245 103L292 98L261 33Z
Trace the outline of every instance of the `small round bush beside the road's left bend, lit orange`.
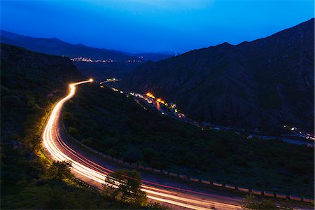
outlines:
M54 161L52 165L46 169L45 178L46 179L66 179L71 176L71 162L69 161Z

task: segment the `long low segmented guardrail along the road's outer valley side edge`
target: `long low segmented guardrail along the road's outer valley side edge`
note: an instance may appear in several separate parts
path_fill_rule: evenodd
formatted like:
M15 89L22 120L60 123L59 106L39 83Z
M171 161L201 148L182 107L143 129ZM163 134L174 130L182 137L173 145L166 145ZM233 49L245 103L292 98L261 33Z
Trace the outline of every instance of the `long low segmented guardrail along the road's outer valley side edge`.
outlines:
M63 123L62 123L62 127L64 129L64 132L66 132L66 129L65 129ZM164 169L155 169L155 168L148 167L145 165L139 165L137 163L125 162L124 160L119 160L118 158L113 158L113 157L111 157L111 155L106 155L104 153L96 151L93 148L90 148L89 146L86 146L85 144L82 144L80 141L74 139L67 132L66 132L66 134L69 138L73 139L73 141L76 141L76 143L80 144L80 146L83 146L87 150L92 151L94 153L97 153L97 155L100 155L100 156L102 156L108 160L111 160L112 162L118 163L118 165L123 165L125 167L130 167L133 169L139 169L139 170L146 171L146 172L152 172L155 174L161 174L164 176L170 176L172 178L181 179L181 180L188 181L188 182L201 183L204 186L214 186L216 188L231 190L231 191L243 193L243 194L252 194L252 195L258 195L258 196L265 196L265 197L276 197L276 198L281 198L281 199L286 199L286 200L314 203L314 199L311 199L309 197L286 195L283 193L274 193L274 192L269 192L269 191L255 190L255 189L241 187L241 186L234 186L234 185L225 184L225 183L218 183L216 181L197 179L197 178L188 176L186 174L176 174L176 173L164 170Z

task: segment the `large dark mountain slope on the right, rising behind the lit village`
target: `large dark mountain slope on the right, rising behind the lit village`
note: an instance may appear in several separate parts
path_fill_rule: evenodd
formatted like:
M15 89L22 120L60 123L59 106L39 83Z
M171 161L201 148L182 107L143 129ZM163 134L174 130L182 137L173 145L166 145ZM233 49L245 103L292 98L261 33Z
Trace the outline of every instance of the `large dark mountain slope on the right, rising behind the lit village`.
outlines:
M215 125L313 130L314 18L267 38L146 62L121 86L154 92Z

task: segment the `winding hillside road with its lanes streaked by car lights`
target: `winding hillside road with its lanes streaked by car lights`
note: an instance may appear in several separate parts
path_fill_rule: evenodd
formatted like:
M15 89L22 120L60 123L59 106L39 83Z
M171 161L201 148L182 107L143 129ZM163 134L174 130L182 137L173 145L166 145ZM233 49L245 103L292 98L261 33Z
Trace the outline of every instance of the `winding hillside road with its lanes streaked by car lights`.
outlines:
M104 163L104 160L98 160L82 149L66 143L66 137L59 126L62 107L76 94L76 86L92 82L93 80L90 79L69 85L69 94L55 105L43 130L42 138L43 148L52 160L71 161L71 170L78 179L91 186L101 188L106 174L113 172L117 166L111 167ZM150 176L150 174L146 175ZM144 176L142 177L144 178ZM150 200L165 204L172 209L241 209L239 197L193 190L191 187L183 188L172 182L165 184L145 177L142 180L141 189L147 193Z

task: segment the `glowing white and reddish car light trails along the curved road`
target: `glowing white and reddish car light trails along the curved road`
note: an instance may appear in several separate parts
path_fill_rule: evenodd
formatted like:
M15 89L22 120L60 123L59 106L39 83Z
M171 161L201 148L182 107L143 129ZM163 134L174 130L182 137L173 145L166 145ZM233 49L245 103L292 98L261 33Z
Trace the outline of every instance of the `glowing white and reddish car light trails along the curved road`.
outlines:
M84 83L91 83L92 81L93 80L90 79L69 85L69 94L56 104L55 108L52 110L48 123L45 126L43 131L43 146L53 160L70 161L72 163L73 172L102 185L106 178L106 174L113 171L85 158L83 155L67 146L59 134L58 127L62 107L76 94L76 86ZM208 196L207 199L211 199L212 195L193 190L165 186L151 181L142 181L142 183L144 184L142 184L141 190L144 190L144 192L148 194L148 198L158 202L173 204L178 207L189 209L209 209L209 207L216 207L219 209L240 209L237 202L234 202L233 199L230 199L233 204L215 202L213 200L201 200L198 196ZM165 190L165 188L168 190ZM216 200L224 200L226 198L227 197L216 196Z

